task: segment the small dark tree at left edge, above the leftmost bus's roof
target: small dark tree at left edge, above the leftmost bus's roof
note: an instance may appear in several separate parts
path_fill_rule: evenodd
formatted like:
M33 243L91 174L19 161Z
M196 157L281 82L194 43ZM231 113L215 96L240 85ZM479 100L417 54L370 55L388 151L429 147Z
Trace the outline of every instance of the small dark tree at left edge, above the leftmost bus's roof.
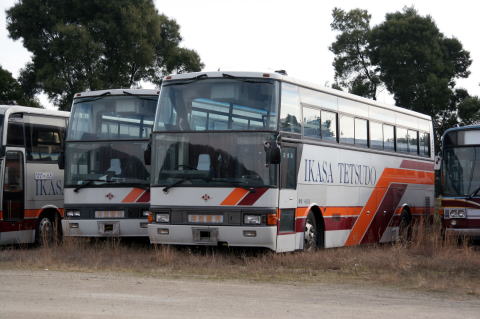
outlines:
M10 72L0 67L0 104L41 107L40 103L24 90Z

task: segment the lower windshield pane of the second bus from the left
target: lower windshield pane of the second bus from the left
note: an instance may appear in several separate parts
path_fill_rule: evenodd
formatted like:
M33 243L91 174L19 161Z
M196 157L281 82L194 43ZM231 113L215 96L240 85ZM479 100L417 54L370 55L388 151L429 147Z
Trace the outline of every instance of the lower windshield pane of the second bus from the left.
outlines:
M148 185L150 169L143 161L147 143L148 141L68 143L65 152L65 184Z

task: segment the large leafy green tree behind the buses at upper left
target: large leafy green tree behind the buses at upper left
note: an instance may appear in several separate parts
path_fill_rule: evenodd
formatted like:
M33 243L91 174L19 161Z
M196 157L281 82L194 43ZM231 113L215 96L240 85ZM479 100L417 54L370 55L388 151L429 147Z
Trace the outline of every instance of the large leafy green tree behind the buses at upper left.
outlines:
M22 79L62 110L76 92L159 83L165 73L203 67L152 0L20 0L7 10L7 28L33 54Z

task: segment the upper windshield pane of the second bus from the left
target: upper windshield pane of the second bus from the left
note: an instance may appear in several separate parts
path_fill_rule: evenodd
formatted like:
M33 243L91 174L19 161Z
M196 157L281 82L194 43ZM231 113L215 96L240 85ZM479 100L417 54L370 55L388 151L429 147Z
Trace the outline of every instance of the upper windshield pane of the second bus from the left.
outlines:
M149 138L158 97L96 96L75 99L67 139L118 140Z

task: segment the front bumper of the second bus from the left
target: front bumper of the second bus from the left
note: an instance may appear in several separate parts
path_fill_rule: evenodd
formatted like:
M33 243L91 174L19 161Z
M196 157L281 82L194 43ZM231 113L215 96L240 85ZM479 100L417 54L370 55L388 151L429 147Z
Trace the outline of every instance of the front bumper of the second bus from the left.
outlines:
M63 219L67 237L146 237L147 219Z

